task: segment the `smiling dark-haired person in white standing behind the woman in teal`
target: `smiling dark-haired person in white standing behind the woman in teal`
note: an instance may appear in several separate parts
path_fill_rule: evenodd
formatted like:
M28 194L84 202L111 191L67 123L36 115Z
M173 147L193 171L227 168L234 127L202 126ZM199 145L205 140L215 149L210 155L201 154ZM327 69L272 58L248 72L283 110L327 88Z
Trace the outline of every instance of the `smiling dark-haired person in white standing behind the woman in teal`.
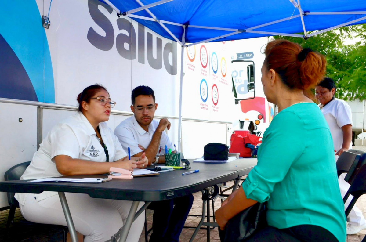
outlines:
M319 101L319 107L332 134L336 160L341 153L352 148L352 111L346 101L335 98L336 84L332 78L324 78L315 87L315 97ZM339 176L338 182L342 197L346 194L350 185L344 180L346 173ZM345 204L347 208L349 198ZM366 228L366 220L362 212L354 206L349 215L347 234L356 234Z

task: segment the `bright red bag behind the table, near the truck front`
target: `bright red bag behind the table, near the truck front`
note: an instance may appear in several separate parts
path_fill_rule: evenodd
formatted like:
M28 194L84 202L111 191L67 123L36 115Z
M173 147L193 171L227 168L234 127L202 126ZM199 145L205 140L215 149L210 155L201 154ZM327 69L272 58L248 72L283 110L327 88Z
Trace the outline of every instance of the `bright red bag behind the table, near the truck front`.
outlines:
M240 134L232 134L230 138L230 149L229 153L240 153L240 157L252 157L251 149L246 148L245 144L258 145L262 142L255 134L250 134L248 131L246 136L243 137Z

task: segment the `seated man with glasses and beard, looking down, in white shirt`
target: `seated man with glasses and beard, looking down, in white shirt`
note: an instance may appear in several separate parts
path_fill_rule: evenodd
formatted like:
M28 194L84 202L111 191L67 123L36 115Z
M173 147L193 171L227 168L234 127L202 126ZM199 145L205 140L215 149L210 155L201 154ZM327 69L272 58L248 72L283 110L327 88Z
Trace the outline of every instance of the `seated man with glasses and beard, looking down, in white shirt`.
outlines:
M138 86L132 90L131 111L134 116L122 121L115 129L122 148L131 156L145 152L149 165L165 163L165 145L174 150L165 129L170 129L168 119L154 119L158 104L149 86ZM174 151L173 151L174 152ZM147 208L154 210L153 232L150 242L178 242L184 222L193 204L193 196L187 195L171 200L152 202Z

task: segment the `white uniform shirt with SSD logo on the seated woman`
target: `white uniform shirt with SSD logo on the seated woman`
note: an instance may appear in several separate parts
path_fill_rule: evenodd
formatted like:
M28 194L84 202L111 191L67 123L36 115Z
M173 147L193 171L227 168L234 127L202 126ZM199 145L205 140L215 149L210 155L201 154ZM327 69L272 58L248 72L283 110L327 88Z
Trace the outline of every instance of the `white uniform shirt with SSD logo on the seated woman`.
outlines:
M99 124L99 130L104 144L108 149L109 161L116 161L126 157L126 152L122 149L117 137L108 128L106 123ZM73 159L105 162L107 156L104 148L99 142L97 135L85 118L82 112L68 117L63 122L56 124L47 137L40 144L40 148L33 155L32 162L27 167L20 180L40 179L48 177L62 176L56 168L55 160L57 155L67 155ZM44 191L35 194L36 200L55 196L57 192ZM27 194L16 193L15 198L24 205Z

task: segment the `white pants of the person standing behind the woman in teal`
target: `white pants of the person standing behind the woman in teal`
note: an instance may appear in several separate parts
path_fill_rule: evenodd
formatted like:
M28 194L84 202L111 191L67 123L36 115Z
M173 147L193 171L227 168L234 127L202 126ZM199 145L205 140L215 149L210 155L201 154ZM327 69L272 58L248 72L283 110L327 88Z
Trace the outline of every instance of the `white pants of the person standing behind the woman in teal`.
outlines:
M345 177L346 177L346 173L343 173L338 178L339 189L341 190L342 198L344 197L344 195L346 195L348 189L350 188L350 184L348 184L348 182L346 182L344 180ZM347 207L350 204L352 198L353 198L353 196L350 196L347 199L346 203L344 204L344 210L347 209ZM361 225L366 223L366 220L363 217L362 212L360 211L360 209L358 209L356 207L356 205L353 206L353 208L350 212L350 215L348 215L348 217L350 218L350 223L355 225L355 226L361 226Z

